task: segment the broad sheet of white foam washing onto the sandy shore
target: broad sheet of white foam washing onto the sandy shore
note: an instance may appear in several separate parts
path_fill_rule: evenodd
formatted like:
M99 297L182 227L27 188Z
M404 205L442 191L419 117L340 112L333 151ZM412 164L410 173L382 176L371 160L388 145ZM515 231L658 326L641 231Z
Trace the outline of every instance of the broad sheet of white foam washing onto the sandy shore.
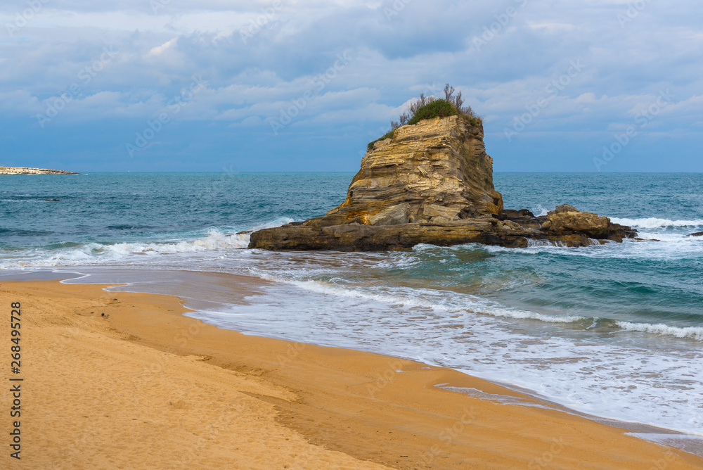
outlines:
M534 390L580 412L703 434L700 421L691 420L697 407L687 401L703 393L700 356L681 345L643 354L644 338L634 338L642 347L624 347L629 341L620 344L602 334L586 339L560 334L554 326L532 329L518 319L460 310L451 299L474 307L481 299L449 292L415 290L413 296L405 288L267 279L279 282L249 296L247 305L188 315L221 328L452 367Z

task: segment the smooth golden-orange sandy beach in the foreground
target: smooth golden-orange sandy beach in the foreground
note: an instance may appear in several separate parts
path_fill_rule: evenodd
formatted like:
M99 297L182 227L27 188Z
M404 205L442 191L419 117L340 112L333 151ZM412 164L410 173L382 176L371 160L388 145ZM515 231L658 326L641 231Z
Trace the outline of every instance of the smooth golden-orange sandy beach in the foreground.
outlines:
M241 292L258 279L237 277ZM21 303L21 461L7 469L701 469L703 460L458 371L217 329L179 298L2 281ZM104 315L103 315L104 314ZM1 322L11 383L10 322ZM9 389L8 386L6 388ZM18 418L20 419L20 418Z

